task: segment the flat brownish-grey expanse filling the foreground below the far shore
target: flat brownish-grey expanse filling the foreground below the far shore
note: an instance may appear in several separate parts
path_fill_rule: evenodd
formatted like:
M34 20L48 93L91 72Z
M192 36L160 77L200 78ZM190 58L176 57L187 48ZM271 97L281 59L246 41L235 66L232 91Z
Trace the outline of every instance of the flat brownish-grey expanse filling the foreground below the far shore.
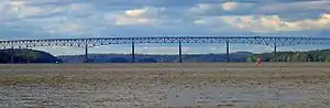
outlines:
M0 89L0 107L326 108L330 64L7 64Z

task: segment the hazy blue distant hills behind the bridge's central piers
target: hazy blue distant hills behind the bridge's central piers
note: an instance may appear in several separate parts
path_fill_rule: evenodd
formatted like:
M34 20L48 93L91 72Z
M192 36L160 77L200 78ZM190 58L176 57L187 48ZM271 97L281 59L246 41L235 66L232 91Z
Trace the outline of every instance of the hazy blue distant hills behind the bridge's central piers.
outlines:
M232 62L245 62L248 56L253 53L238 52L231 53ZM81 63L84 55L65 55L57 56L64 63ZM130 63L132 62L131 54L90 54L89 62L91 63ZM226 54L187 54L183 55L184 62L226 62ZM178 55L161 55L161 54L136 54L135 61L138 63L173 63L178 62Z

